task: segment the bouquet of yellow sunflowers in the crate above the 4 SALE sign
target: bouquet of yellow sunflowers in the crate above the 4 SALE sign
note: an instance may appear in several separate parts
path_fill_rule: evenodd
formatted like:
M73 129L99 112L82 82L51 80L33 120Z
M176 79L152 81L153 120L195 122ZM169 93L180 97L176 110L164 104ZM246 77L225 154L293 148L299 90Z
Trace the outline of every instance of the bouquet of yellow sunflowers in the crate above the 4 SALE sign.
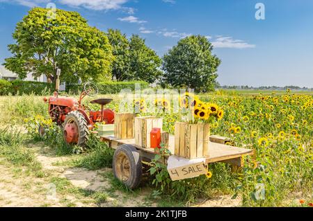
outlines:
M203 102L194 96L186 92L179 98L179 105L182 109L188 109L191 119L189 123L214 123L214 121L220 121L224 116L224 111L216 103Z

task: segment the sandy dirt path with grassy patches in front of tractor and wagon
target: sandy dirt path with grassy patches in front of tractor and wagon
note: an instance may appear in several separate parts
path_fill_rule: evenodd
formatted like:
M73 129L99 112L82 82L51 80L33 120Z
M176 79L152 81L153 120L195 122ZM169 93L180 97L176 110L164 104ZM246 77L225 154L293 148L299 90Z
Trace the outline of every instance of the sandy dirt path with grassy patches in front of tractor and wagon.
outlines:
M0 206L157 206L150 200L152 188L143 187L134 192L122 191L112 182L111 168L101 170L86 170L66 165L71 157L56 157L51 149L44 145L33 145L36 159L42 164L48 177L35 178L23 175L23 171L15 171L12 166L0 161ZM74 156L75 157L75 156ZM73 191L98 194L106 197L102 202L87 196L81 196L66 191L56 190L57 182L51 182L51 177L57 177L70 182ZM64 189L69 188L65 186ZM72 187L71 187L72 188ZM72 188L73 189L73 188ZM240 200L231 200L230 195L216 197L212 200L202 200L193 206L240 206Z

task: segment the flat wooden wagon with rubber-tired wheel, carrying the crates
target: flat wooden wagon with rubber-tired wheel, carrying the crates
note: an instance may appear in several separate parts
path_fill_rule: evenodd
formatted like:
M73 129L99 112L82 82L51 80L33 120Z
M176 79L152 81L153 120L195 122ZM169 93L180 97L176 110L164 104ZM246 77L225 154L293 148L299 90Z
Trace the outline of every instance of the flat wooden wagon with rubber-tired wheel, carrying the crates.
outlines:
M135 139L116 139L114 135L100 136L100 139L106 142L110 148L115 149L113 157L115 177L129 188L136 188L141 182L143 163L149 165L157 153L152 148L136 145ZM225 145L225 141L227 139L224 137L210 136L210 154L209 157L205 157L205 163L223 162L230 163L234 167L242 167L244 156L255 156L254 150ZM169 136L168 150L174 154L175 136Z

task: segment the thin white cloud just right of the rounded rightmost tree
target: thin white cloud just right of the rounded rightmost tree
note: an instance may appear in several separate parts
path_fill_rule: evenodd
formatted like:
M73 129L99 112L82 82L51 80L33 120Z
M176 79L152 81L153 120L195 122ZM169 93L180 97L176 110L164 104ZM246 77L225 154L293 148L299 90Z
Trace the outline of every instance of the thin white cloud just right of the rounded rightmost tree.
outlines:
M216 36L211 43L216 48L255 48L255 44L248 44L243 40L232 39L232 37L223 37L221 35Z

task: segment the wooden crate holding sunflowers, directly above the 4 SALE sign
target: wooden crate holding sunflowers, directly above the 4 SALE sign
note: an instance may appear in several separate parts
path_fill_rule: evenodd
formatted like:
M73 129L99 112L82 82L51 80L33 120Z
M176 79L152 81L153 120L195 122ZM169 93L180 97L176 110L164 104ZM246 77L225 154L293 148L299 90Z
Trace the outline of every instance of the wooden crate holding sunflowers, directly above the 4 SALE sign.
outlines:
M209 136L207 123L175 123L175 155L186 159L209 157Z

